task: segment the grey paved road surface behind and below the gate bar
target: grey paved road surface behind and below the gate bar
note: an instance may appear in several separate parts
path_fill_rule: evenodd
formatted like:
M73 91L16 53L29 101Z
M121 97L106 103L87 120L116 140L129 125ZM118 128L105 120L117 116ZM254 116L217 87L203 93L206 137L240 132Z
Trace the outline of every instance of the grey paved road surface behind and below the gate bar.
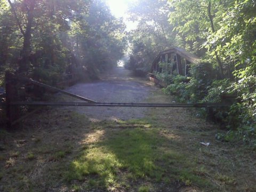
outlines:
M67 91L98 102L146 102L158 88L143 78L133 77L131 71L117 67L100 81L78 83ZM92 121L103 119L132 119L145 116L147 108L135 107L72 107L86 114Z

